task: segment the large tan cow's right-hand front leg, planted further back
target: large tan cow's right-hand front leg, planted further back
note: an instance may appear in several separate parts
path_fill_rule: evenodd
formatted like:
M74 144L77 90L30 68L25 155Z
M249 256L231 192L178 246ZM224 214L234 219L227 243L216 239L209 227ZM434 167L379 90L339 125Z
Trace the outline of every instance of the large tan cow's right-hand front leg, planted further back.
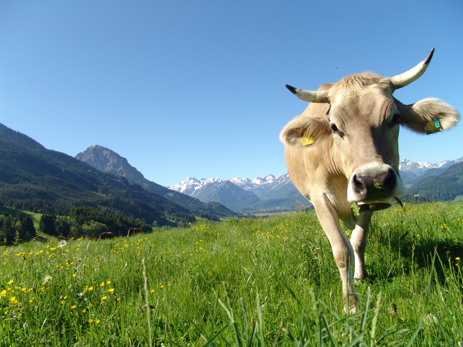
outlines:
M350 236L350 244L354 249L355 257L355 279L366 279L368 276L365 267L365 249L367 248L368 226L373 212L360 212L357 225Z

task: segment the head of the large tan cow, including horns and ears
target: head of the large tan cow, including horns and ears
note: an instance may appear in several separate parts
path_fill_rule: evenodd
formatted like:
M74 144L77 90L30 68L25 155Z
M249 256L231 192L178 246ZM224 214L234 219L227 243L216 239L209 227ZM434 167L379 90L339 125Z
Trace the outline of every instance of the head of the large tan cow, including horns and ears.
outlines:
M332 136L333 166L338 167L349 186L349 202L388 201L403 193L399 177L399 125L425 133L425 127L438 119L441 129L457 124L458 112L438 99L423 99L403 105L393 97L395 89L418 79L431 61L434 49L411 70L392 78L363 73L324 85L318 91L286 86L298 98L328 103L325 114L304 112L286 125L280 135L289 146L303 146L302 137L320 142ZM314 146L314 145L309 145ZM309 147L307 146L307 147Z

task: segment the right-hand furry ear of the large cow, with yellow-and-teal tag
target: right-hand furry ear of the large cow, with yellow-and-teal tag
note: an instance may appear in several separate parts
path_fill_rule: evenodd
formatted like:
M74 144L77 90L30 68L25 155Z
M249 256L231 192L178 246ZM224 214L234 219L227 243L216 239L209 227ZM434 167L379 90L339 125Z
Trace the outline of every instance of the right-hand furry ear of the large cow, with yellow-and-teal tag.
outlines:
M458 123L460 114L449 104L435 98L426 98L412 105L403 105L395 99L400 112L400 124L418 133L425 133L425 126L437 118L442 130L448 130Z

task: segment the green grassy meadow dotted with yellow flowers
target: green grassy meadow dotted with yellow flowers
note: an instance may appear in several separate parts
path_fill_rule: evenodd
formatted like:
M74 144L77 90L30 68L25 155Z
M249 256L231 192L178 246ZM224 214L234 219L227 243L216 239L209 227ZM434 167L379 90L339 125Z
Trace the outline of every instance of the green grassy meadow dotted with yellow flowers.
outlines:
M312 211L4 247L0 346L458 346L462 207L375 212L350 318Z

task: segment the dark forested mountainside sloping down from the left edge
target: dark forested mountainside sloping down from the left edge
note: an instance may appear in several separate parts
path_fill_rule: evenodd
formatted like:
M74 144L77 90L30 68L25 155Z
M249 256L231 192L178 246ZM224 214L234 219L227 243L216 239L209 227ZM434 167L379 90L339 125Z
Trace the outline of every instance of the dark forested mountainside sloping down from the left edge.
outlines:
M70 155L0 124L0 201L25 211L69 215L71 207L97 207L154 225L186 225L189 209L124 177L102 173ZM211 205L213 206L213 205ZM234 212L222 208L224 215ZM200 217L217 218L209 211Z

